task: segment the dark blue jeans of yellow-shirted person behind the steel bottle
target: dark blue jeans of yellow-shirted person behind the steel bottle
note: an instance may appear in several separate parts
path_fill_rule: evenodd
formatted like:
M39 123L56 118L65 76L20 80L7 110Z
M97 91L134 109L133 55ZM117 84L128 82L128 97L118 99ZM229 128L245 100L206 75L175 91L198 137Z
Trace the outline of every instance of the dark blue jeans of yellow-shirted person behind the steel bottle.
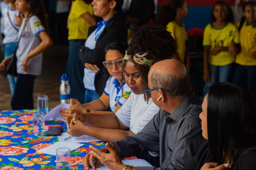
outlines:
M69 41L69 57L67 61L66 74L69 78L71 88L70 97L84 102L85 88L83 85L83 63L79 58L79 50L84 45L85 40Z

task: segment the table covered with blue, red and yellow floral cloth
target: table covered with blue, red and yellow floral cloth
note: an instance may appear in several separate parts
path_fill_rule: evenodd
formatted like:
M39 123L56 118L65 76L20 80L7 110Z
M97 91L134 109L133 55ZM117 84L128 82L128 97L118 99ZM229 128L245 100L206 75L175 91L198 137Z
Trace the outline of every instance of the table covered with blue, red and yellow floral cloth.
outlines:
M58 142L58 137L35 136L33 134L33 113L36 110L0 111L0 170L54 170L56 157L36 151ZM67 127L59 119L45 122L45 130L50 126ZM83 170L82 158L89 153L89 145L105 147L104 142L83 143L82 147L71 151L71 169ZM125 159L136 159L127 157Z

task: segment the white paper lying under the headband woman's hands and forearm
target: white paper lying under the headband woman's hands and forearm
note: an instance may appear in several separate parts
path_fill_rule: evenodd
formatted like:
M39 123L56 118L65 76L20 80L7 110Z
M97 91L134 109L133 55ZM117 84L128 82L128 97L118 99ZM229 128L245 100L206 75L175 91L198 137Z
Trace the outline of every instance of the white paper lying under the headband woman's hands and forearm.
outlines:
M66 141L64 139L70 137L70 134L68 133L62 133L61 136L58 136L59 142L98 142L101 141L99 139L96 139L92 136L88 135L83 135L80 137L74 137L72 136L71 138L67 139Z

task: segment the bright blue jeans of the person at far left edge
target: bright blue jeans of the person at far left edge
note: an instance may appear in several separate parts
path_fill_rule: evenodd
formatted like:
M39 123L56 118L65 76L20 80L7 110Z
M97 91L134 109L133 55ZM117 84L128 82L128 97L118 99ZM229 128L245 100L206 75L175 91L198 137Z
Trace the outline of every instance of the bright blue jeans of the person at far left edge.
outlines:
M9 43L9 44L4 45L5 46L5 58L11 56L15 52L16 45L17 45L16 43ZM13 95L17 78L12 75L9 75L9 74L7 75L7 78L9 80L10 91Z

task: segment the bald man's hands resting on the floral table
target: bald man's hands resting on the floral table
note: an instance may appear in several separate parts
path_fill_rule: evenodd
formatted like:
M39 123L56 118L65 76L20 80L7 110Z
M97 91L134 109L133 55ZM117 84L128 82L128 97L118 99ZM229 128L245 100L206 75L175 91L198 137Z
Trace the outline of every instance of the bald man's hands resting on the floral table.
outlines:
M92 166L93 169L98 167L100 162L107 166L111 170L122 170L125 167L125 164L122 163L119 155L118 149L115 145L110 145L106 143L106 147L101 149L97 149L93 146L89 146L92 150L88 155L83 158L83 165L87 170L89 170L89 164ZM94 164L94 160L96 159L96 164Z

